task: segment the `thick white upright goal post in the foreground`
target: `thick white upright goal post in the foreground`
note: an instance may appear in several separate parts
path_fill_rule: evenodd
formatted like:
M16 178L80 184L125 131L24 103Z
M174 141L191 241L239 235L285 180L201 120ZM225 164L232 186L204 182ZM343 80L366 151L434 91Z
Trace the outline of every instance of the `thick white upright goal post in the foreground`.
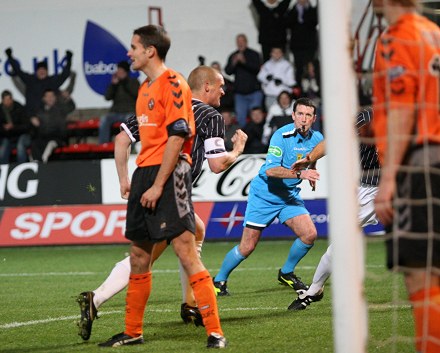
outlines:
M351 51L351 6L351 0L321 1L318 9L337 353L363 353L367 344L364 243L357 214L360 171L355 134L357 89Z

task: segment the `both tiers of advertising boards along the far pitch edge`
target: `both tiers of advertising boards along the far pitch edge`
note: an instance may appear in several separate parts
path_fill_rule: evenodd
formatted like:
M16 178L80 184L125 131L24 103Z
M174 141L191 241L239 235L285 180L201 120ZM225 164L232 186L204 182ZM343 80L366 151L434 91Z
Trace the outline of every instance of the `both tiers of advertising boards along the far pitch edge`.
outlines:
M214 174L204 165L194 182L194 207L206 225L206 238L237 239L249 184L264 155L244 155L229 170ZM302 183L301 195L318 235L327 236L327 167L318 164L316 191ZM135 169L130 159L130 173ZM126 205L119 194L113 159L0 166L0 246L125 243ZM366 233L380 231L368 227ZM276 220L264 238L291 237Z

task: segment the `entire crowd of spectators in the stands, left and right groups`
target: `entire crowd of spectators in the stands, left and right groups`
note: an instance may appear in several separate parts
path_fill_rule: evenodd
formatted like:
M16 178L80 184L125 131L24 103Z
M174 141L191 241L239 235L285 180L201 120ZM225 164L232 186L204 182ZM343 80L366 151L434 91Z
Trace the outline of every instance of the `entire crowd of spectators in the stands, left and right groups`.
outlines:
M252 10L261 50L249 48L246 34L239 33L224 69L220 61L211 64L225 78L219 110L226 125L226 147L231 148L230 137L240 128L249 136L248 154L267 152L272 134L292 123L292 106L299 97L317 104L314 129L322 131L317 7L309 0L252 0ZM68 116L75 109L73 54L66 52L62 72L52 76L45 61L27 73L11 48L6 55L25 102L22 105L8 90L1 94L0 163L47 162L57 147L69 144ZM61 90L65 82L67 88ZM104 95L112 106L100 117L97 144L111 142L114 124L134 114L138 88L129 63L119 62Z

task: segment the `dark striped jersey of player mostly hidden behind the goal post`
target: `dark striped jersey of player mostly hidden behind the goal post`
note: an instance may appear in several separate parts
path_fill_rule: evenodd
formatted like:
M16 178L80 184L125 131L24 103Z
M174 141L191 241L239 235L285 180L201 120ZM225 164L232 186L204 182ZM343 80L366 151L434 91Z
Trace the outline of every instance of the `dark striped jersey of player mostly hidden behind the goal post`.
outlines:
M359 130L371 123L373 110L371 108L362 109L356 119L356 129ZM359 157L361 163L361 183L377 186L379 184L380 165L377 148L375 145L360 143Z

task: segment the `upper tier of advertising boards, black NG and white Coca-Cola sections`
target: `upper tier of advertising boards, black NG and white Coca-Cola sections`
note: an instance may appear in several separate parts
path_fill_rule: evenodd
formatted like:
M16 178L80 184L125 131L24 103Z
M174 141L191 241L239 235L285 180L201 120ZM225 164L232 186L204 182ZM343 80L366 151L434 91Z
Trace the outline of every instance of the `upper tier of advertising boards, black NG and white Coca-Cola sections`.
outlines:
M193 186L193 201L246 201L249 184L258 174L265 155L242 155L227 171L215 174L207 162ZM129 160L129 173L136 168ZM305 200L327 198L327 167L318 165L321 179L316 191L301 184ZM123 204L113 159L96 161L53 161L0 165L0 207L83 204Z

